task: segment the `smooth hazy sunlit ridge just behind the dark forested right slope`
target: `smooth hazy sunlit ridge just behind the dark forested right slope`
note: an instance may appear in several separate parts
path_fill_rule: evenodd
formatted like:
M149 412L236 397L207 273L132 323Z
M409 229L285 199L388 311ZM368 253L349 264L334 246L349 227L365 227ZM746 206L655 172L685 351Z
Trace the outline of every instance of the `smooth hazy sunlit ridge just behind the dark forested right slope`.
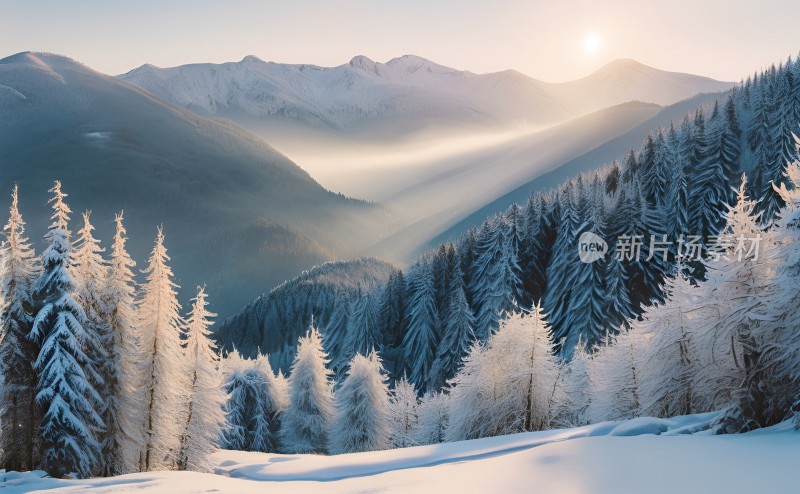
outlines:
M425 247L436 245L432 238L438 239L441 232L472 212L520 189L519 184L557 173L564 163L651 122L660 111L661 107L649 103L625 103L429 166L432 172L422 174L383 201L387 207L410 212L412 216L416 213L422 219L381 239L370 253L390 259L412 259ZM591 162L589 166L601 163ZM393 181L397 183L399 179ZM527 194L531 190L528 187ZM480 221L485 218L481 216Z

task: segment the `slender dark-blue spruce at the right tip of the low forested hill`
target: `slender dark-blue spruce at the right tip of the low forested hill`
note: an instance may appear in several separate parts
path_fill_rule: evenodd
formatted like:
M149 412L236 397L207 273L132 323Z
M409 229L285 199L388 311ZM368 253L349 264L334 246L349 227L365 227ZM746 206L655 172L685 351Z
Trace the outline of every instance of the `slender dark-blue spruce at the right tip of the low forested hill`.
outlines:
M436 294L430 263L426 259L411 266L406 276L406 335L403 347L409 381L418 390L425 389L431 378L439 335L436 334Z

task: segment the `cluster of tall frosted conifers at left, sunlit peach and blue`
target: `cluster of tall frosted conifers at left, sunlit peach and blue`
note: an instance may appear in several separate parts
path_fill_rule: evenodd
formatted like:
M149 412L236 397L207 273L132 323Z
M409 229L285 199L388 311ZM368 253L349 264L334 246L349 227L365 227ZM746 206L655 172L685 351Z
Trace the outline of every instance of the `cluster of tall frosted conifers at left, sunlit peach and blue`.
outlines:
M0 453L6 470L208 470L224 426L206 294L178 304L164 235L138 286L122 214L109 258L90 213L73 240L61 183L37 256L14 188L0 250Z

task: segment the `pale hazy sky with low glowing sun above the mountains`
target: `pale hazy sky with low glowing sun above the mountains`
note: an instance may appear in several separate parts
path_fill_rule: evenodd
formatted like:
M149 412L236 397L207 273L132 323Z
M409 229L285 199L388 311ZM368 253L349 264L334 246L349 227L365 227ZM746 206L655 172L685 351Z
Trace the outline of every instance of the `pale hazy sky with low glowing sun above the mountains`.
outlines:
M796 0L0 0L0 57L68 55L109 74L144 63L339 65L415 54L548 81L616 58L738 80L800 50Z

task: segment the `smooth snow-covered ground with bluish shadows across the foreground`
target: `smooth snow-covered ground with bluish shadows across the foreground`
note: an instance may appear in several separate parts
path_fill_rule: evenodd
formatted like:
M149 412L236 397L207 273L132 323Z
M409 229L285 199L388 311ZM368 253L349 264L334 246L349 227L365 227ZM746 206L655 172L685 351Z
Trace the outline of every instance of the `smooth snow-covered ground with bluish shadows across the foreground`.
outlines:
M779 425L714 436L709 415L341 456L224 451L217 474L55 480L0 473L0 492L794 493L800 432Z

